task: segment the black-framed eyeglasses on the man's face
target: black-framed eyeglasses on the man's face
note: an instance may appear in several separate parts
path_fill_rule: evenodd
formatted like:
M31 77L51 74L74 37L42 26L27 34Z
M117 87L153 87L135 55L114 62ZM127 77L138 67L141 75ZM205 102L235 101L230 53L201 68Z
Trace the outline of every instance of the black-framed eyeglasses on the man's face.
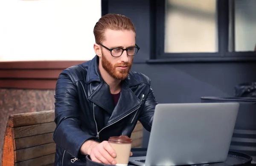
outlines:
M137 44L135 44L135 47L128 47L126 49L123 49L123 48L112 48L112 49L109 49L105 45L102 45L101 43L98 43L98 44L101 45L102 47L106 48L108 51L110 51L111 55L114 56L114 57L121 56L124 51L127 52L128 56L134 56L140 50L140 48L139 48L139 46Z

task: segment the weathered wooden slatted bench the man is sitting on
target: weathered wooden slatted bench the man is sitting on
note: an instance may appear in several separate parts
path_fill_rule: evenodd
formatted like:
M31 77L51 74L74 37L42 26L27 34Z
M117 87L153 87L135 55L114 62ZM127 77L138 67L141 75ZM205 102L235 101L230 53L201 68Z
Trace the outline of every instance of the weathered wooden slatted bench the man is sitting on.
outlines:
M10 115L5 131L2 166L53 166L54 110ZM141 147L143 126L137 123L132 147Z

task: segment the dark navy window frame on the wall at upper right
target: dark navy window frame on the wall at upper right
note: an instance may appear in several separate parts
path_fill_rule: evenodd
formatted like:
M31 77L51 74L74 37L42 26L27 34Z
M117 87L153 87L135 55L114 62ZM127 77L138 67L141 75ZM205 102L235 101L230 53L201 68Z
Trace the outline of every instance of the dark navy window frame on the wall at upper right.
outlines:
M233 0L231 0L233 1ZM150 0L151 55L148 63L165 62L222 62L256 61L256 52L229 52L229 0L217 0L218 52L216 53L165 53L165 2ZM233 27L234 28L234 27ZM234 38L234 33L232 34Z

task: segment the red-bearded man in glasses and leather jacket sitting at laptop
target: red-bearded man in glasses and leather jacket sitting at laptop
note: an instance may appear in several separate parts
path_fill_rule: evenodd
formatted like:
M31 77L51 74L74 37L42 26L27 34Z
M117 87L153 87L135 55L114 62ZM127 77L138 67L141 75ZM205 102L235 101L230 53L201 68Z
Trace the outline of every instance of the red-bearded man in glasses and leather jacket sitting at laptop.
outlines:
M93 161L116 164L111 136L131 136L139 120L151 130L157 101L150 79L131 72L139 51L128 17L107 14L93 30L96 56L63 70L55 89L55 166Z

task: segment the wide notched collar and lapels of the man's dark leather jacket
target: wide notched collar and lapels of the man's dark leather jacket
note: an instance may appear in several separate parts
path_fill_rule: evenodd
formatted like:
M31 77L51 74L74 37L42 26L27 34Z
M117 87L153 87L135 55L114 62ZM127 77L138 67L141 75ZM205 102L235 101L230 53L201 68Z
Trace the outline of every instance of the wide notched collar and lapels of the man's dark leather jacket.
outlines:
M142 102L129 87L140 84L141 82L130 72L128 77L122 81L121 93L115 107L109 85L100 76L98 64L99 58L96 55L88 66L86 83L93 84L95 81L100 83L97 84L97 87L93 87L94 91L88 99L111 114L108 120L108 124L110 124L140 107Z

